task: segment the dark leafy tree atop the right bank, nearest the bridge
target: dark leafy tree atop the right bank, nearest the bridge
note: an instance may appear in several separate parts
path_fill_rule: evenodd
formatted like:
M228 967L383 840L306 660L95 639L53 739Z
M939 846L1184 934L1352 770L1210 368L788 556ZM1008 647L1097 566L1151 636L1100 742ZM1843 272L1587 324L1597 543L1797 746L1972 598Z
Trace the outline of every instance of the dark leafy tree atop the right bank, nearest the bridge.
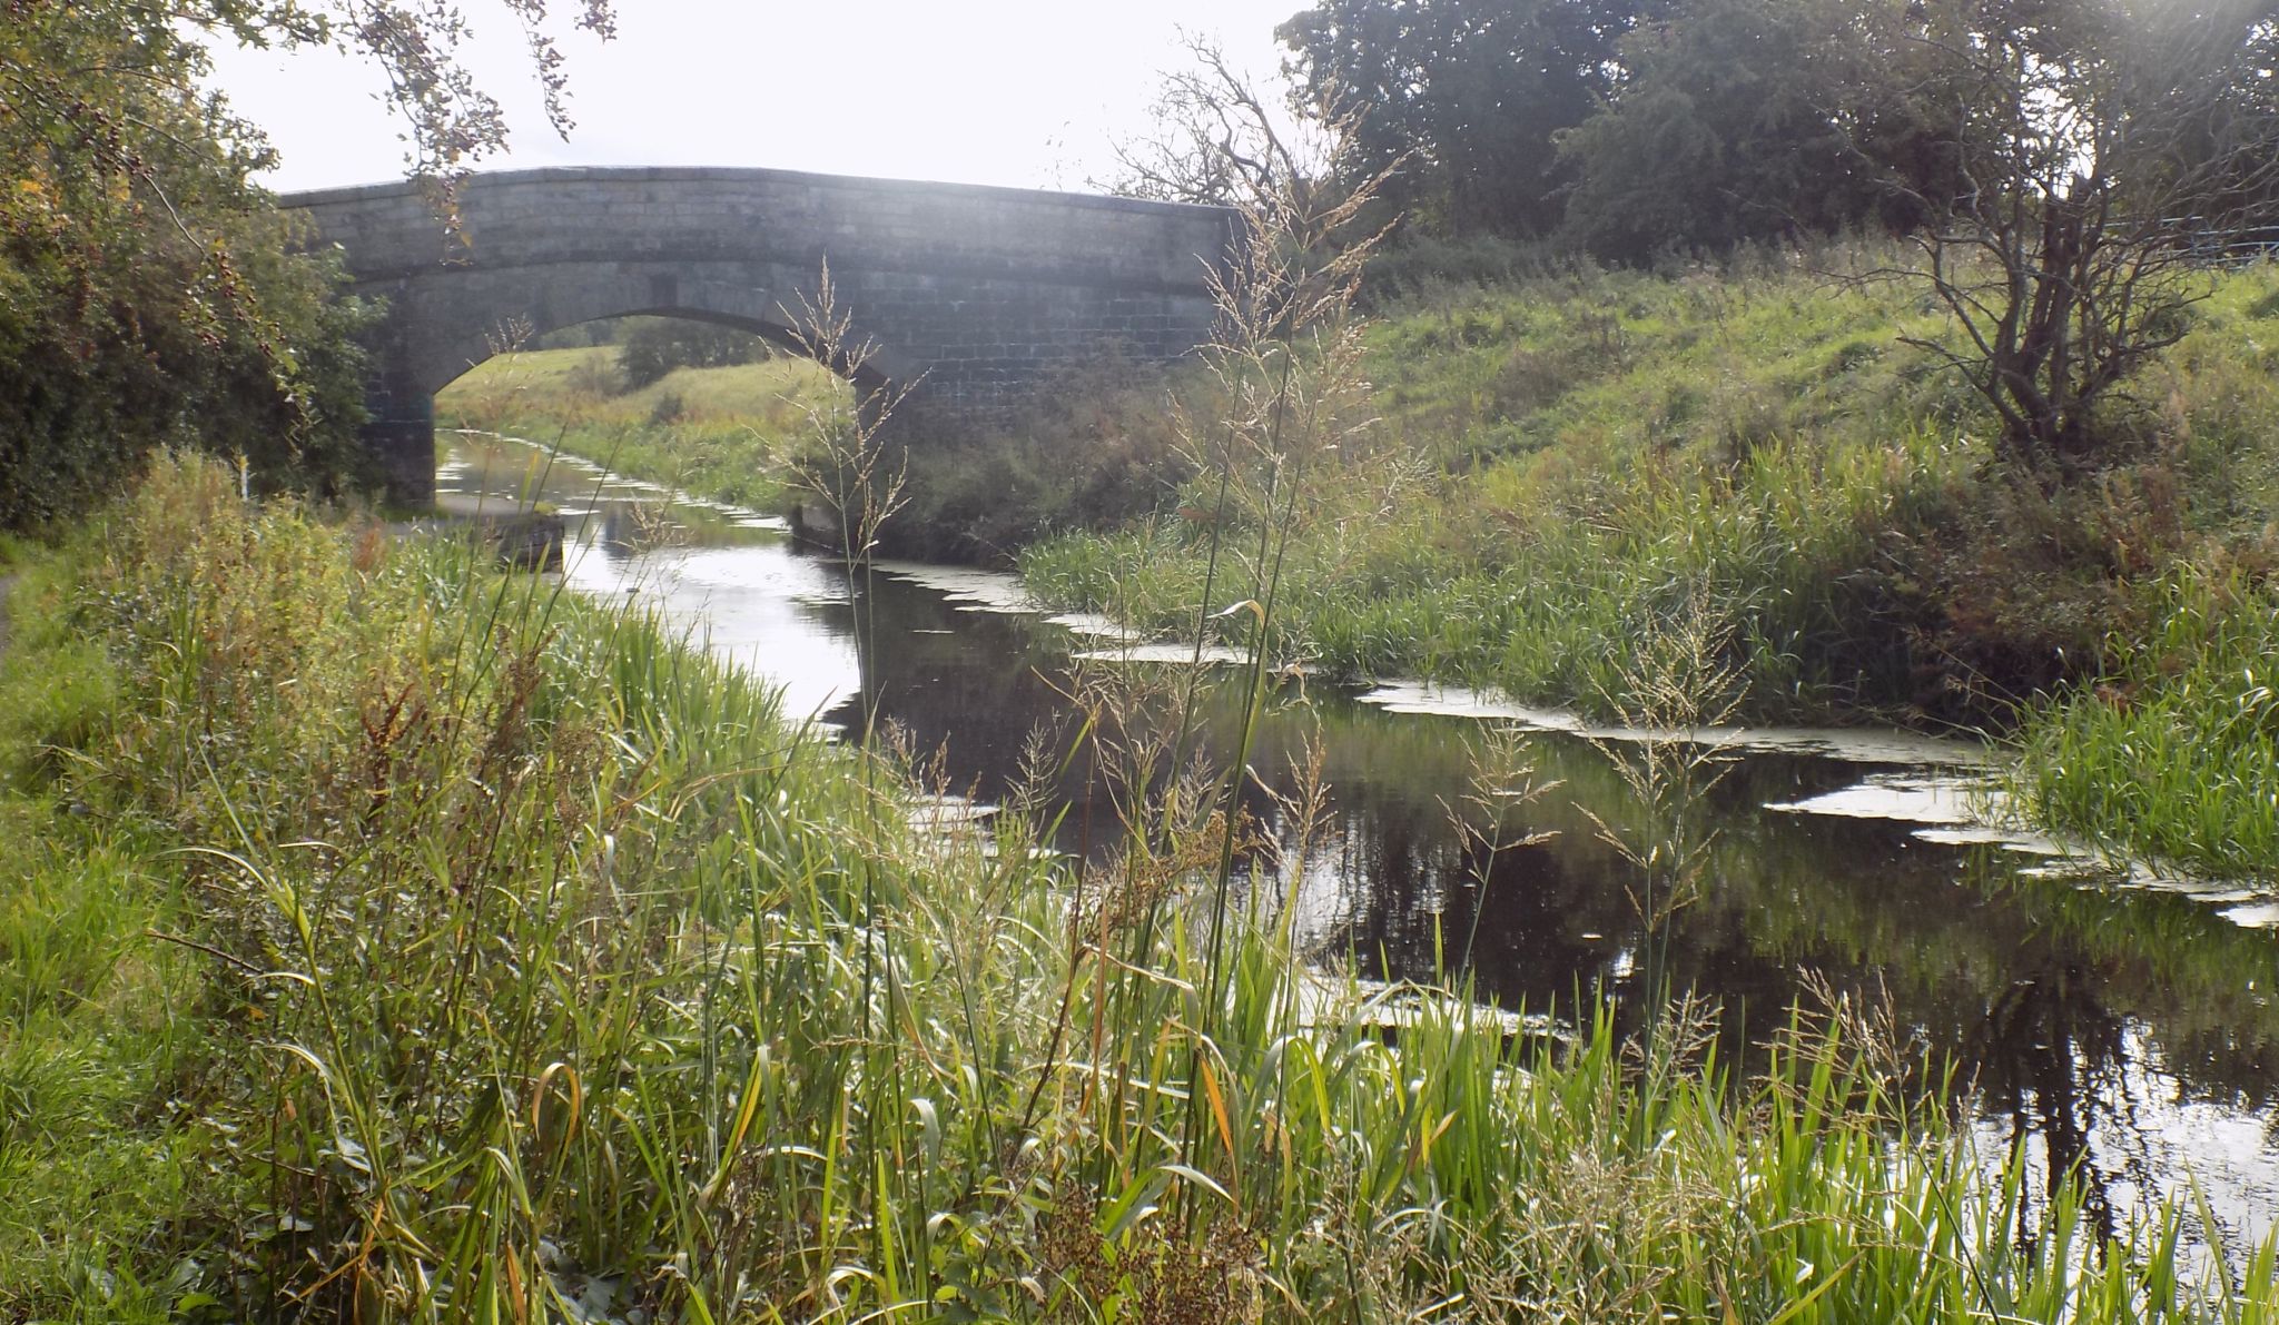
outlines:
M1445 232L1547 234L1554 134L1614 89L1616 43L1671 0L1322 0L1276 34L1308 96L1370 109L1340 162Z

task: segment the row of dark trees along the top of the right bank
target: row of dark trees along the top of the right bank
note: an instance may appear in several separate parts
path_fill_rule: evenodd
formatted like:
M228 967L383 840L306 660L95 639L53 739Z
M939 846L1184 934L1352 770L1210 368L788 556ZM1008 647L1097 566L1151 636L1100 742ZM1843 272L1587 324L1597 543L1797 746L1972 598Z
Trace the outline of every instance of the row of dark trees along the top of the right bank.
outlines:
M2274 196L2279 25L2258 0L1331 0L1279 36L1301 102L1372 107L1333 166L1399 162L1388 196L1438 239L1648 262L1942 223L1955 246L2008 244L2008 278L2044 266L2056 225L2033 303L2099 275L2065 248L2099 228L2176 250L2268 223ZM1983 326L1999 289L1969 287ZM2083 301L2119 294L2104 278Z

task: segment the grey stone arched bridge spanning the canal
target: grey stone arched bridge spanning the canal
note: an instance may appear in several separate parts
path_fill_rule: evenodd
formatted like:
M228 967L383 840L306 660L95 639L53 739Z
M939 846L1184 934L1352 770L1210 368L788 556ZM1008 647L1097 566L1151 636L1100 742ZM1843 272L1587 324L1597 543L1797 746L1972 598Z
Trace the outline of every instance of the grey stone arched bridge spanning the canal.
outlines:
M923 444L1003 423L1055 367L1110 346L1165 362L1203 344L1208 273L1240 234L1217 207L679 166L474 175L465 241L410 182L280 205L340 244L356 294L387 301L365 437L408 503L435 492L435 392L501 326L668 314L798 348L827 262L852 339L875 346L857 385L907 387L889 430Z

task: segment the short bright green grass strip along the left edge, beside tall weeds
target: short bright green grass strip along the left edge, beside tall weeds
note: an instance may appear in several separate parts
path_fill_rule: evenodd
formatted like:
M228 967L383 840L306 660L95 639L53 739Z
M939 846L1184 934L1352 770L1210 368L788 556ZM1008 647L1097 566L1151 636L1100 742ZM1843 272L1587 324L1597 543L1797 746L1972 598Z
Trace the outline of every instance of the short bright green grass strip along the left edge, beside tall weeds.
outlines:
M68 790L116 674L77 637L52 558L23 569L0 656L0 1314L166 1320L191 1284L162 1229L205 1218L239 1172L194 1125L221 1052L196 1013L203 958L182 870L132 815Z

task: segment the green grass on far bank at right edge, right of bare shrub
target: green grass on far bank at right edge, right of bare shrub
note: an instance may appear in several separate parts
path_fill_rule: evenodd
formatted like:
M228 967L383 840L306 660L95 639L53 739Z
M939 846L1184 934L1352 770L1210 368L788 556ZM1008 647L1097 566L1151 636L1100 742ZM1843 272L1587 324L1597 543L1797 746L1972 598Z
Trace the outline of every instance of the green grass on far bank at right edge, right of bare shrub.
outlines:
M2192 555L2145 560L2099 642L2094 685L2026 710L2012 790L2037 820L2158 867L2279 879L2279 278L2217 287L2147 373L2172 419L2172 480L2122 524L2206 530Z

